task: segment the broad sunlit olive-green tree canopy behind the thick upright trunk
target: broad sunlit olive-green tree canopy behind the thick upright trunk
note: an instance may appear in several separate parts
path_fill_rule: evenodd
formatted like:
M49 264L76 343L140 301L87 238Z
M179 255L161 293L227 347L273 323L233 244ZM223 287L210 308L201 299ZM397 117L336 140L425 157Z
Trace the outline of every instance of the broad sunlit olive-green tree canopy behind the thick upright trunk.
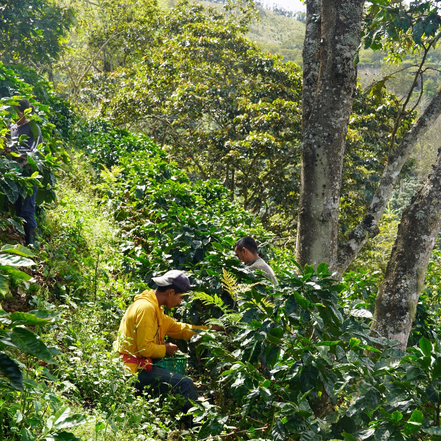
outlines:
M297 224L301 72L248 41L242 14L238 22L228 11L178 3L158 19L141 63L91 75L82 93L109 120L167 146L190 176L221 179L232 198L285 237ZM370 204L398 102L357 88L339 240ZM414 118L406 116L398 137Z

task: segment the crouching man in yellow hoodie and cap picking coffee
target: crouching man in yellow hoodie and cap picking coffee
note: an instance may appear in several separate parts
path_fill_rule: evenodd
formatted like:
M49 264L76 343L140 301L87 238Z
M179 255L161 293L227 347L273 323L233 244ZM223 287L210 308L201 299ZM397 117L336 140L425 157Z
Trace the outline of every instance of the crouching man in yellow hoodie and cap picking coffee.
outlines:
M173 343L164 343L166 335L174 338L190 339L191 329L208 329L208 326L193 326L179 323L163 313L161 306L168 309L182 302L184 293L190 291L190 280L182 272L172 270L162 277L153 277L158 285L156 291L146 290L135 296L123 316L119 330L119 347L123 361L133 372L138 371L136 388L157 387L161 392L176 391L187 398L184 411L192 406L188 401L198 399L198 392L189 377L172 374L170 371L154 366L151 359L172 356L178 347ZM211 329L219 331L219 326Z

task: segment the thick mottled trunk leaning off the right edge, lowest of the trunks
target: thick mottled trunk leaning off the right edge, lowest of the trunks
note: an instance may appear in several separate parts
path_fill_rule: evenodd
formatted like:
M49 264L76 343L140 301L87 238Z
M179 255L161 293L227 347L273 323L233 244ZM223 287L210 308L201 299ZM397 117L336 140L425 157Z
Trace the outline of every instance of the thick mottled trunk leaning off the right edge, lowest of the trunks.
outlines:
M441 228L441 148L432 172L404 211L375 303L372 329L404 350Z

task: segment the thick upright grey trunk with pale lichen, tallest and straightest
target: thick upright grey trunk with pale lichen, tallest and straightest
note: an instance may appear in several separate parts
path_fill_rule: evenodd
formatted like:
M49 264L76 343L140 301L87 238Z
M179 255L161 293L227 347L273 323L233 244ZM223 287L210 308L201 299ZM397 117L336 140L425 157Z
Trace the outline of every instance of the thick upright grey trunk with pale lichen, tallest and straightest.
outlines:
M321 50L314 102L302 134L297 260L336 267L344 145L356 86L363 0L321 4ZM306 52L305 52L306 53ZM307 99L311 97L306 95Z

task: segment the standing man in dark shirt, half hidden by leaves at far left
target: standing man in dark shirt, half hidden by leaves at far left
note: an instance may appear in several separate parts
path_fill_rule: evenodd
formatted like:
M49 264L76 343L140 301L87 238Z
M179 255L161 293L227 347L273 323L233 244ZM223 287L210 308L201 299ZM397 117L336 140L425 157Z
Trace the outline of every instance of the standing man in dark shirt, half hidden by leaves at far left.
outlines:
M14 106L18 113L18 118L14 120L11 126L11 141L13 142L12 149L20 156L16 158L17 164L20 168L22 176L31 176L34 170L30 168L27 160L28 154L37 152L37 146L43 142L40 127L35 124L34 131L31 129L30 120L26 118L26 109L32 109L34 106L28 100L18 100L18 105ZM35 129L36 127L36 129ZM20 137L23 136L22 139ZM34 192L27 194L26 198L19 198L15 202L15 213L22 217L26 223L23 225L25 232L26 245L33 245L35 242L35 228L37 228L37 221L35 220L35 198L37 196L37 187L34 186Z

